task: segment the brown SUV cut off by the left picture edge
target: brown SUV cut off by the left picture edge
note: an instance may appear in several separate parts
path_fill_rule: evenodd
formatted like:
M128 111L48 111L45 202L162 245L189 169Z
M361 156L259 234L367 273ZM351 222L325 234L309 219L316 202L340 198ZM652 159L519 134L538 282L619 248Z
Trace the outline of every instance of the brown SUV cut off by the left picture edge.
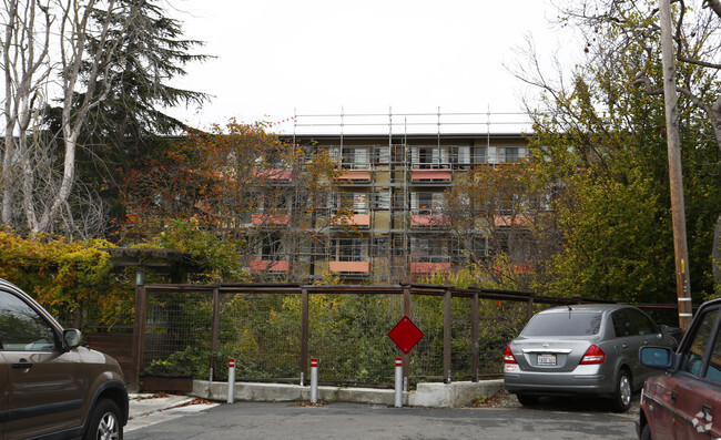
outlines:
M79 330L0 279L0 438L122 439L120 366L80 344Z

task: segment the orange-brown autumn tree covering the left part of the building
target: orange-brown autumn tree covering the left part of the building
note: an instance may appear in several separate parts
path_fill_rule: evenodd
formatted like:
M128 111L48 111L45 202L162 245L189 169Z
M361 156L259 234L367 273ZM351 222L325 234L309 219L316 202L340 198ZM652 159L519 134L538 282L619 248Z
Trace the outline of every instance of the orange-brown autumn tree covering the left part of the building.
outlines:
M123 239L143 241L174 219L193 218L220 239L242 239L238 258L261 278L278 262L299 267L325 246L322 232L332 223L318 207L328 206L336 175L326 153L282 142L263 124L230 122L129 171Z

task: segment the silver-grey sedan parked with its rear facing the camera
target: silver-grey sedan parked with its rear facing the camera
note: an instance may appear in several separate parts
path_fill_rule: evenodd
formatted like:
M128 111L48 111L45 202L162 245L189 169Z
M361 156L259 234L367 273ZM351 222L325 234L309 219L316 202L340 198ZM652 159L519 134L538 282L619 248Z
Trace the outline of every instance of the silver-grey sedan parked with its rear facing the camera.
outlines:
M667 326L628 305L571 305L536 314L504 357L504 381L522 405L542 396L610 398L627 411L631 395L658 370L639 362L646 345L674 348Z

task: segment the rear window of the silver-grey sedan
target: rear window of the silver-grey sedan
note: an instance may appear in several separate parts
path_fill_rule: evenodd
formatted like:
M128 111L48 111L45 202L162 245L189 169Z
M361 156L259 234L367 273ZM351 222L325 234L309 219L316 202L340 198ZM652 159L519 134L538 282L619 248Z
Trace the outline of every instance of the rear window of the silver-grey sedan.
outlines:
M522 336L590 336L601 327L600 313L569 310L562 314L538 314L524 328Z

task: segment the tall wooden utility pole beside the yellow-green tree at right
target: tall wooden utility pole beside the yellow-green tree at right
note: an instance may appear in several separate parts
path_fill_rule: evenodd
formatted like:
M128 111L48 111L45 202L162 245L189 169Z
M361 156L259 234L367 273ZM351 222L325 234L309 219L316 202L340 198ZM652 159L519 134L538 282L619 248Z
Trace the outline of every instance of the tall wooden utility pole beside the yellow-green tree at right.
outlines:
M679 327L686 332L692 318L691 286L689 285L689 247L686 239L686 208L683 207L683 173L681 171L681 139L676 92L676 57L671 39L671 6L660 0L661 58L663 65L663 100L666 133L669 146L669 180L671 215L673 218L673 250L676 255L676 291L679 300Z

